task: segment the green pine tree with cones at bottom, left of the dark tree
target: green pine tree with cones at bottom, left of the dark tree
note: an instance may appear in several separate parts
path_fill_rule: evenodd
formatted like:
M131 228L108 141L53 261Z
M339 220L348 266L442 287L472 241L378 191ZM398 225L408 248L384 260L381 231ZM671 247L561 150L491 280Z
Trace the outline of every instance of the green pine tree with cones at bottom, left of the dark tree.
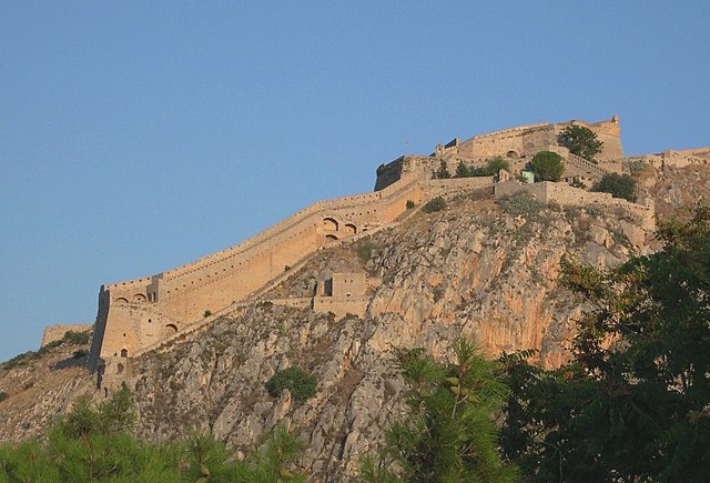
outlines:
M464 339L453 348L454 360L434 360L423 349L397 352L409 386L408 412L385 435L379 457L364 459L368 482L508 482L515 466L497 447L499 414L507 388L497 364Z

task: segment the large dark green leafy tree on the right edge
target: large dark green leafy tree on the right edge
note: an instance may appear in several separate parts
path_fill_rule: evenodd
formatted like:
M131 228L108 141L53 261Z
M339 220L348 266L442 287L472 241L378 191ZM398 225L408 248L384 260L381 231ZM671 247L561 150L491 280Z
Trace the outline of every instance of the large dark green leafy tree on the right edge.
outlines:
M663 249L611 271L564 263L595 310L556 371L508 363L506 454L531 481L707 481L710 210L660 224Z

